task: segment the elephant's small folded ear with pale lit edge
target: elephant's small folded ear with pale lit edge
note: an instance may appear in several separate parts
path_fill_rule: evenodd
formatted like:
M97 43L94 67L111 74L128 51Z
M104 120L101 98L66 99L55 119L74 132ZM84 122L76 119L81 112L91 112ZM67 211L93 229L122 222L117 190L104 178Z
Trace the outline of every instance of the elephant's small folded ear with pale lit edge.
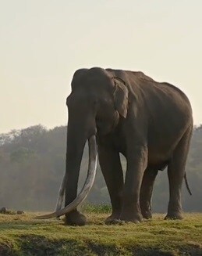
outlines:
M129 91L126 87L126 82L119 77L113 77L115 81L115 91L114 91L114 102L115 109L118 110L119 114L126 118L128 111L128 95Z

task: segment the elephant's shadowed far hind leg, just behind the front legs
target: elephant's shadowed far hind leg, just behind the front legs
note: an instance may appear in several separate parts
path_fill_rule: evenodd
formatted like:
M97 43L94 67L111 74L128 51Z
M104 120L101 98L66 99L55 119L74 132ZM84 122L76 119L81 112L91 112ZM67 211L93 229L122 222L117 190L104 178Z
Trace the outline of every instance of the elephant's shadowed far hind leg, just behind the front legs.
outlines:
M151 215L151 195L153 191L154 181L158 174L158 170L148 168L144 171L144 177L140 189L140 209L143 218L152 218Z

